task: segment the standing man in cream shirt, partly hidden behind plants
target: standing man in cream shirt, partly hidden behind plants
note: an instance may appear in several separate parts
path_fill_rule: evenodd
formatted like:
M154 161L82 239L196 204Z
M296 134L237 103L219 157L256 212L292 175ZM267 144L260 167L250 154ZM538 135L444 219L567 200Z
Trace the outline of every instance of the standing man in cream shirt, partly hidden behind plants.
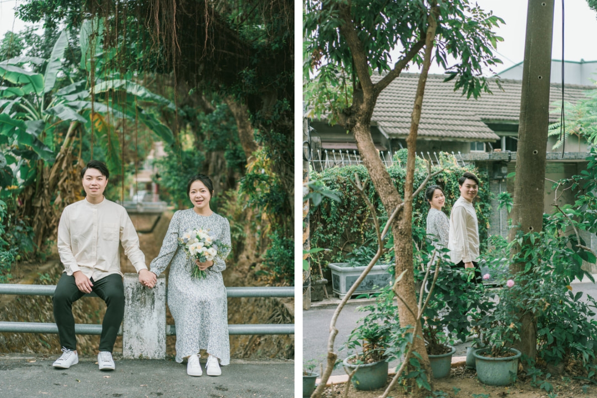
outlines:
M458 185L460 198L456 200L450 212L448 249L450 258L457 268L475 269L475 283L479 283L479 222L473 206L473 199L479 193L479 178L472 172L465 172L458 179Z

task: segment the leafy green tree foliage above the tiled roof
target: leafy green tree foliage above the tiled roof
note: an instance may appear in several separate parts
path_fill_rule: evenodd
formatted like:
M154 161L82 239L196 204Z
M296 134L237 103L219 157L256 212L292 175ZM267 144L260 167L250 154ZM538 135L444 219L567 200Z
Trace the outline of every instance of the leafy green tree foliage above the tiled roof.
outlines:
M347 38L340 34L343 7L350 7L350 22L367 57L369 75L385 75L403 59L416 69L421 66L420 52L411 60L407 54L424 42L427 16L431 12L429 2L413 0L370 0L348 5L333 0L306 2L303 23L306 103L313 115L325 115L332 124L344 117L342 110L350 109L353 90L358 87L359 79L363 79L355 70ZM438 2L436 20L433 55L438 65L447 70L446 80L454 79L454 89L467 96L476 98L481 92L490 91L482 68L501 63L493 48L503 39L491 30L504 21L467 0ZM401 50L398 58L392 57L393 50ZM449 65L448 57L456 58L456 63Z

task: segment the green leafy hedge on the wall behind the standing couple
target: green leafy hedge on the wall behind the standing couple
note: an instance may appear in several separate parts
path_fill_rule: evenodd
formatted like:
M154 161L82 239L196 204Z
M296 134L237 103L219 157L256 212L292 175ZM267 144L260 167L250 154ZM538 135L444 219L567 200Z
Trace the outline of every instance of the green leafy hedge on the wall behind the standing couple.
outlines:
M406 150L400 150L394 155L394 165L387 168L392 177L398 192L404 193L404 180L406 170L402 165L406 164ZM487 246L487 232L491 214L490 191L488 188L487 172L479 171L472 165L458 166L452 155L442 153L440 157L444 170L433 177L427 186L438 184L444 189L446 200L444 211L450 216L450 209L460 196L458 190L458 178L465 171L475 173L480 180L479 195L475 199L475 209L479 220L479 239L481 240L481 251ZM432 172L438 171L439 166L433 166ZM310 245L312 248L325 248L328 251L321 251L313 254L311 263L320 264L322 267L328 263L340 263L348 261L350 252L354 249L361 252L374 253L377 248L373 219L367 205L361 196L356 192L349 180L355 180L355 173L361 181L367 180L365 192L371 203L377 209L377 215L383 224L387 220L386 211L381 204L373 183L371 183L367 169L363 165L345 166L325 169L322 172L311 172L310 179L319 180L329 190L340 196L340 202L330 198L324 198L321 205L311 208L309 214L310 222ZM427 177L426 161L417 158L416 171L414 175L415 189ZM414 229L425 229L429 204L424 198L425 189L421 190L415 198L413 212ZM419 234L413 233L414 239ZM368 249L368 250L367 250ZM371 255L373 257L373 255Z

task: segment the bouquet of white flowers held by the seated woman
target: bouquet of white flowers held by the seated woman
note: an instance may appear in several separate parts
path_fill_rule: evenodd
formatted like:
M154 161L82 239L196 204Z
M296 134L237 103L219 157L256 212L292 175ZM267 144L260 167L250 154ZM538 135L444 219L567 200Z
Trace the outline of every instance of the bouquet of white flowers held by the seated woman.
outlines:
M210 230L194 229L187 230L183 236L179 237L179 246L182 246L187 254L194 260L199 260L201 263L205 261L213 261L221 254L218 250L224 250L228 245L214 240L214 233ZM202 271L196 265L193 267L193 277L203 279L207 277L205 271Z

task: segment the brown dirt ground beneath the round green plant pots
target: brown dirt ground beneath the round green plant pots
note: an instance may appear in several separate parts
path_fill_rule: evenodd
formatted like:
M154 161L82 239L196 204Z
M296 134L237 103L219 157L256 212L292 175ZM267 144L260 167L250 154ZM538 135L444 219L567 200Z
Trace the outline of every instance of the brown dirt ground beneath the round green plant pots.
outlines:
M388 378L388 382L390 380L391 378ZM551 395L538 387L532 387L530 380L524 380L524 378L507 387L492 387L479 382L474 370L461 366L453 368L450 377L435 380L433 388L435 391L444 391L445 393L443 395L436 394L436 396L450 398L597 398L595 384L562 377L550 378L548 381L553 385ZM323 396L325 398L343 398L345 387L346 384L328 387ZM389 397L411 398L398 388L391 391ZM373 391L358 391L350 385L347 398L374 398L380 397L383 392L383 388Z

